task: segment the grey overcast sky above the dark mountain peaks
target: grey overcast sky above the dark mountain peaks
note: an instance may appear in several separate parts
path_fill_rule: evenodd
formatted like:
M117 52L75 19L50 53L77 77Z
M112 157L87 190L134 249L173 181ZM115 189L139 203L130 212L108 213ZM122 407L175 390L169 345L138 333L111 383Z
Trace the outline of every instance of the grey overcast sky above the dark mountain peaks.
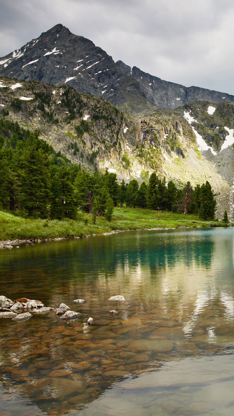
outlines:
M0 0L0 57L57 23L115 61L234 94L233 0Z

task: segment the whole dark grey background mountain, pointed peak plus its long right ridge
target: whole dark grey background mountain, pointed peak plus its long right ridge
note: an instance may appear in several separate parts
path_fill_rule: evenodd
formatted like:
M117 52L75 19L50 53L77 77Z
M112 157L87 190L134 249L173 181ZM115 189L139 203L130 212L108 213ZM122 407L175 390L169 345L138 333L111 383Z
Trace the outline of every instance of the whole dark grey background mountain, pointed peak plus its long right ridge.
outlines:
M107 53L67 27L56 25L35 40L0 58L1 77L70 85L103 97L129 114L147 114L155 106L177 108L194 100L234 102L234 96L184 87L115 63Z

